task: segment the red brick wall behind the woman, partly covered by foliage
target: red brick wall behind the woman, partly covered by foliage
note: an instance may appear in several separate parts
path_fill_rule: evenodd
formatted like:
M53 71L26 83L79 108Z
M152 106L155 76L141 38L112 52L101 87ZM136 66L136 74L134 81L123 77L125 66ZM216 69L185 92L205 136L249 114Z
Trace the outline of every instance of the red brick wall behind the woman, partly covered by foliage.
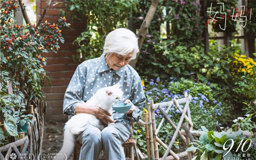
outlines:
M48 0L36 0L37 20L41 18L44 8L47 6L47 2ZM42 22L47 20L50 23L58 23L60 9L65 10L63 2L64 0L52 0ZM53 6L55 3L58 4ZM62 29L61 33L64 35L65 43L60 44L60 49L57 54L53 52L46 54L47 66L44 67L52 82L52 87L49 87L48 81L45 81L44 87L47 101L47 120L62 122L67 120L67 116L62 114L64 92L78 66L78 64L72 60L72 55L78 54L76 52L76 46L72 43L84 30L83 22L70 21L69 17L67 17L67 19L72 29Z

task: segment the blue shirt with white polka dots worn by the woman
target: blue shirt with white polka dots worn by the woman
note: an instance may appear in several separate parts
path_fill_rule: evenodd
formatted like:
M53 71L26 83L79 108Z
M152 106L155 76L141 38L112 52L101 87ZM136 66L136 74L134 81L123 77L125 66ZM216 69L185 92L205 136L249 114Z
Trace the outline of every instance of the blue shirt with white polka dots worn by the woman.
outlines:
M89 100L99 88L112 86L118 82L124 92L122 102L130 99L135 105L135 110L132 117L113 111L114 121L128 125L130 125L130 120L138 121L146 101L140 76L129 64L116 71L109 69L104 54L99 58L84 61L76 68L64 95L63 113L75 115L77 103Z

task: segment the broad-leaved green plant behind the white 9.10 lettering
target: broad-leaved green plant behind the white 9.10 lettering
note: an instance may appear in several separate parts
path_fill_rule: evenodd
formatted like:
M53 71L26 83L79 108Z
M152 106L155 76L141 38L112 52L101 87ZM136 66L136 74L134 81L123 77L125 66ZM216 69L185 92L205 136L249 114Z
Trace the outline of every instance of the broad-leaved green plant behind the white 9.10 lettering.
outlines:
M241 130L232 132L232 128L230 128L227 131L218 133L209 131L204 126L201 128L204 133L201 134L199 140L190 143L189 148L186 149L186 151L196 150L193 160L222 160L222 157L225 159L241 159L241 157L233 153L242 153L244 148L251 147L250 144L246 143L248 138L243 137ZM241 143L243 145L240 148L239 144Z

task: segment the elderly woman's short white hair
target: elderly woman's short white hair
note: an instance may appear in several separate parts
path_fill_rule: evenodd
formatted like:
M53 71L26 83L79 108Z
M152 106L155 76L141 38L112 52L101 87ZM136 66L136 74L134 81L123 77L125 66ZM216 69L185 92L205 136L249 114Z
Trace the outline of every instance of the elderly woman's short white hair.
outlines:
M134 32L125 28L115 29L110 32L105 39L103 49L103 54L117 53L119 55L128 55L132 52L131 60L135 59L140 51L138 38Z

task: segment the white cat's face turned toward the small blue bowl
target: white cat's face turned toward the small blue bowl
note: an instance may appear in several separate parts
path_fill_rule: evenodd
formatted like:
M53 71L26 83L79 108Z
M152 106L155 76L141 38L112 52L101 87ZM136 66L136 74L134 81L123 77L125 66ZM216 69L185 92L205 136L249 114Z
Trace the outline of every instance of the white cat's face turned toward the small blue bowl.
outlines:
M123 92L119 87L120 87L119 83L111 87L106 87L105 93L107 94L107 98L109 102L116 103L122 100Z

